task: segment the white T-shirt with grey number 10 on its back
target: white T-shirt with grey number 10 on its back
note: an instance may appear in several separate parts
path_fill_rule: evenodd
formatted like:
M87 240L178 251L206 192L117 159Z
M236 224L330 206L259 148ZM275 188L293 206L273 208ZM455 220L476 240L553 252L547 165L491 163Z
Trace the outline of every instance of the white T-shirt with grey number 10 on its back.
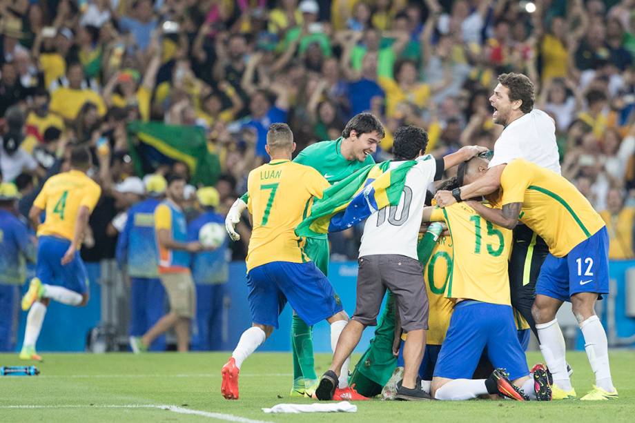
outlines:
M360 245L360 257L398 254L417 259L417 238L428 186L443 175L443 159L431 155L417 159L406 175L397 206L384 207L368 217ZM403 161L393 161L394 169Z

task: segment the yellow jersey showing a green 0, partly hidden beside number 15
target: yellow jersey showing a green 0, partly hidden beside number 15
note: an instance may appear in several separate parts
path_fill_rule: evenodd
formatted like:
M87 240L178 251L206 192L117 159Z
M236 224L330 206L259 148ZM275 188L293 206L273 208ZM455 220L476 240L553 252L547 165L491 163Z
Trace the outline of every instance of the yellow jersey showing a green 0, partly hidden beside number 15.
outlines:
M452 239L439 237L429 261L425 264L423 277L428 292L429 318L426 344L441 345L450 326L454 302L445 297L452 269Z

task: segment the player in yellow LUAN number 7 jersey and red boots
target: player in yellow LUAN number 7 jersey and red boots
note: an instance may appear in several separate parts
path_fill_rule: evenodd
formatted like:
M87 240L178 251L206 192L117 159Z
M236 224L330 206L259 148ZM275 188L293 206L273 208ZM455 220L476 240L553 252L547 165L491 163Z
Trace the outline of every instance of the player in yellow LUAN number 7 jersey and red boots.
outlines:
M335 348L348 316L326 276L304 253L304 239L295 226L313 197L321 198L329 182L317 170L293 163L293 133L286 124L273 124L267 132L268 164L255 168L247 179L247 208L253 216L253 233L247 253L247 286L253 325L242 336L222 368L221 392L238 399L238 373L242 362L278 327L278 315L289 301L306 324L326 319L331 324ZM344 386L346 371L342 372ZM355 393L352 388L349 398Z

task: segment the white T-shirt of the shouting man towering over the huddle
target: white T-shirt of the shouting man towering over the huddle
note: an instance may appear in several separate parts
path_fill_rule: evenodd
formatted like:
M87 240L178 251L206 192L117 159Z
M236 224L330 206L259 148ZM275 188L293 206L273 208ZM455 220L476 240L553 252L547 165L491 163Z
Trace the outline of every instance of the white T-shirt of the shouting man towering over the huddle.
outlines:
M507 125L494 144L489 167L514 159L531 161L560 175L556 124L543 110L535 108Z

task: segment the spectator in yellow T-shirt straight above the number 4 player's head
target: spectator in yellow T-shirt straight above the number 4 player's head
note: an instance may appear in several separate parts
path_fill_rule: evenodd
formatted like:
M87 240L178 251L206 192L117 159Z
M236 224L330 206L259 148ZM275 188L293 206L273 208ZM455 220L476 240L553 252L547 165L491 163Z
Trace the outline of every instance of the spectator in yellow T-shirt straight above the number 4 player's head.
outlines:
M67 121L75 120L81 106L86 102L94 103L100 116L106 114L106 104L101 96L88 88L81 88L84 80L84 67L81 63L72 63L66 72L68 87L57 88L51 95L50 110Z

